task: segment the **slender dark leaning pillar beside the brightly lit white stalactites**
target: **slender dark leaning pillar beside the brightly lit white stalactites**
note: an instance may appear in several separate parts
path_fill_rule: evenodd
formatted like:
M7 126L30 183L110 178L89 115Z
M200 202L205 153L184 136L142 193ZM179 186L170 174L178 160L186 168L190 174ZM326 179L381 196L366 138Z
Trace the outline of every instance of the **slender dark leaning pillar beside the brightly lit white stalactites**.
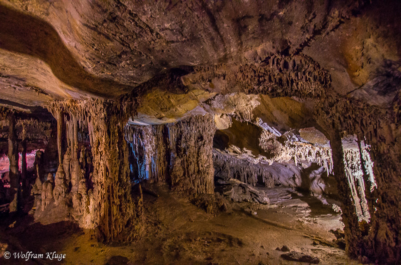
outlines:
M329 132L330 146L333 157L333 173L337 180L340 200L342 202L342 222L346 241L346 251L352 256L359 256L361 253L361 232L359 229L358 216L355 204L352 200L352 191L348 184L348 177L345 172L344 152L341 142L340 131L334 129Z

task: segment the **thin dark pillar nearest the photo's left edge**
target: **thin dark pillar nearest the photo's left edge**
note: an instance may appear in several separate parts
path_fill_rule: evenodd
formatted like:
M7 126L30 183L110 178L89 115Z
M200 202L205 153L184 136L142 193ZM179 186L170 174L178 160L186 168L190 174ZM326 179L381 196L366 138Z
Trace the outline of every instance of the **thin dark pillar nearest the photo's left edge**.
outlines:
M20 176L18 172L18 142L16 135L16 119L14 113L9 114L9 160L10 160L10 185L12 189L10 212L18 210Z

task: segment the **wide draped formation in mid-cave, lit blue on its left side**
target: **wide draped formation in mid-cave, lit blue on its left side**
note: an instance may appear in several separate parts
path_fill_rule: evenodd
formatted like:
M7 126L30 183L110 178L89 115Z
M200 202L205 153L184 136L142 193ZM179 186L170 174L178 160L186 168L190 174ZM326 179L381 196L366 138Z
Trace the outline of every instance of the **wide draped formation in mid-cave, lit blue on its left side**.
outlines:
M214 192L213 116L195 115L172 124L127 125L138 177L166 181L174 190Z

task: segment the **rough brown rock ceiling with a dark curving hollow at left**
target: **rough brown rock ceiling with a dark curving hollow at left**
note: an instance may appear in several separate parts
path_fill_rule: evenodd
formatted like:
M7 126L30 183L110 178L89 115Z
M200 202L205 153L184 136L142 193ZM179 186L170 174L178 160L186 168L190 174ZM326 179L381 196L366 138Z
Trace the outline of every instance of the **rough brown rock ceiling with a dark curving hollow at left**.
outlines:
M178 81L191 89L259 93L264 81L255 84L258 73L249 72L277 63L277 73L289 72L284 81L304 78L292 73L302 71L315 90L385 106L401 83L400 5L2 0L0 103L113 98L153 88L140 84L177 68L178 77L187 75ZM304 68L295 69L298 62ZM259 88L242 89L244 83Z

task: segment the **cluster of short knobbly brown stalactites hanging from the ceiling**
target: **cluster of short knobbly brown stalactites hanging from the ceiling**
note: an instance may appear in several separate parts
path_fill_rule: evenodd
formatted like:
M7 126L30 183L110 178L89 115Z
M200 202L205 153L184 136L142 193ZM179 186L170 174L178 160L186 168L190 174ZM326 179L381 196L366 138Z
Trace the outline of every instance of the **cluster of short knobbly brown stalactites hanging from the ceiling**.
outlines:
M248 63L239 66L225 63L196 66L186 76L184 83L209 84L209 87L214 87L211 85L213 80L221 79L229 84L227 87L238 87L248 94L296 95L303 98L324 95L331 83L329 72L306 55L283 56L270 53L261 58L254 54L248 59Z

